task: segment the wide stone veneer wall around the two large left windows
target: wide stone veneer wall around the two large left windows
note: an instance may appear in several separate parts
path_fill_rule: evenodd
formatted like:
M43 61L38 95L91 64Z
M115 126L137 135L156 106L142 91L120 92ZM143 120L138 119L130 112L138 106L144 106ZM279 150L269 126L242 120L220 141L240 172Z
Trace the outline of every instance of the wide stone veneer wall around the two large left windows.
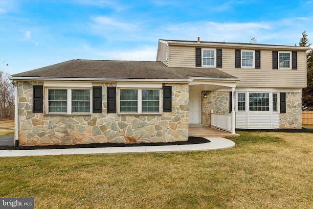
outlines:
M188 140L188 84L166 84L172 86L172 112L135 116L107 114L106 87L116 83L93 83L102 86L103 112L73 116L45 114L46 95L44 113L33 113L32 87L44 82L17 83L20 146Z

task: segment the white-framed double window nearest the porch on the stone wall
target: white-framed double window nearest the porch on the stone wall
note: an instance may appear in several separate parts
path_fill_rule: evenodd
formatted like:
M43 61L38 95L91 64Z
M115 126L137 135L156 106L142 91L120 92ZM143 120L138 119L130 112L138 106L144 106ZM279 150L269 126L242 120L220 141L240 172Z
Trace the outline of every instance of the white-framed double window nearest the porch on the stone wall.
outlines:
M160 113L159 89L120 89L120 113Z

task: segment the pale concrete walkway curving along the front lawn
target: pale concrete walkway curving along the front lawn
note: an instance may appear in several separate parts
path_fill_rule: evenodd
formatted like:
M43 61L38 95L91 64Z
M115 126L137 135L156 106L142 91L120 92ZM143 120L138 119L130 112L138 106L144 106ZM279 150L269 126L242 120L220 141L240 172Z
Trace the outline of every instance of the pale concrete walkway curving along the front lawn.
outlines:
M43 156L43 155L77 155L77 154L113 154L113 153L146 153L146 152L182 152L204 151L234 147L235 143L224 138L205 138L209 143L165 145L165 146L134 146L134 147L99 147L75 149L34 149L34 150L0 150L0 157Z

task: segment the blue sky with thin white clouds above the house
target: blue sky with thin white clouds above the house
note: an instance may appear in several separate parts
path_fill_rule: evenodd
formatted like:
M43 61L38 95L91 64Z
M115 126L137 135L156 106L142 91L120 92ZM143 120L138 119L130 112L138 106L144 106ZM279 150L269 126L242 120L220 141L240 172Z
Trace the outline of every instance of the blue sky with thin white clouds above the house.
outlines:
M0 0L0 69L155 61L158 39L293 46L304 30L313 43L313 0Z

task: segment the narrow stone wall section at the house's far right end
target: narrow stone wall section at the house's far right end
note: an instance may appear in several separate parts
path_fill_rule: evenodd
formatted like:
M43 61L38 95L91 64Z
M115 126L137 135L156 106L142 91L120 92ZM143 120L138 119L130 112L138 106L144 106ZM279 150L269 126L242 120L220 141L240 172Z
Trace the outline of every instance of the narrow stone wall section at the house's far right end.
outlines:
M279 128L302 128L302 94L286 93L286 113L280 114Z

